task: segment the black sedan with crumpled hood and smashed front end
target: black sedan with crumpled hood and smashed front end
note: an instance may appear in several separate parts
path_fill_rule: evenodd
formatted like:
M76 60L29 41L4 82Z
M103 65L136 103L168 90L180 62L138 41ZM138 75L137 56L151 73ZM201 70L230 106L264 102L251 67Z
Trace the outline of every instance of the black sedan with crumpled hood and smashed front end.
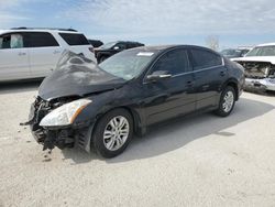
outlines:
M242 66L199 46L144 46L100 65L67 52L31 107L31 130L44 150L78 145L103 157L133 134L195 111L227 117L244 83Z

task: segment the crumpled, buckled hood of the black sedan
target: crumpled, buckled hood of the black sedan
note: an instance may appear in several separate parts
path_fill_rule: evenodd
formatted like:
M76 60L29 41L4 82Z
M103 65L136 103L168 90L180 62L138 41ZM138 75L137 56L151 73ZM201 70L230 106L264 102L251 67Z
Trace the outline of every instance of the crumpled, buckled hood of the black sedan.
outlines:
M38 96L44 100L85 96L119 88L124 83L124 79L100 69L90 59L66 52L53 74L41 84Z

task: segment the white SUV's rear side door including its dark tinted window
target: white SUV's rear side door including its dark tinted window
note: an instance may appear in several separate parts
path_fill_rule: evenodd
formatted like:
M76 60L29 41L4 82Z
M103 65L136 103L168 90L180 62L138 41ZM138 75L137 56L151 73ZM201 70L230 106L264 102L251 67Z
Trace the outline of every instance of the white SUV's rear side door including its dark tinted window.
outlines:
M25 32L32 77L45 77L56 67L62 48L48 32Z

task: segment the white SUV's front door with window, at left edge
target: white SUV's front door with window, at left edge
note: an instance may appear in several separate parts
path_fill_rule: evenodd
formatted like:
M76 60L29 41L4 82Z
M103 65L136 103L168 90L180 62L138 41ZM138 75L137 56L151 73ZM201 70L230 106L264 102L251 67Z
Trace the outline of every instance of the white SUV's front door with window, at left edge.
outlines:
M0 35L0 80L30 78L29 52L20 33Z

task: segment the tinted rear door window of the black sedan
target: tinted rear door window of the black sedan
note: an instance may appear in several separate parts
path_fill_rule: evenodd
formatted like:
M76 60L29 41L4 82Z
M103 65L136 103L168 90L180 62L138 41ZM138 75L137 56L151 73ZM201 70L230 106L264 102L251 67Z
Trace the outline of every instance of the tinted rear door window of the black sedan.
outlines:
M221 57L218 54L206 50L191 50L194 69L202 69L206 67L219 66L222 64Z

